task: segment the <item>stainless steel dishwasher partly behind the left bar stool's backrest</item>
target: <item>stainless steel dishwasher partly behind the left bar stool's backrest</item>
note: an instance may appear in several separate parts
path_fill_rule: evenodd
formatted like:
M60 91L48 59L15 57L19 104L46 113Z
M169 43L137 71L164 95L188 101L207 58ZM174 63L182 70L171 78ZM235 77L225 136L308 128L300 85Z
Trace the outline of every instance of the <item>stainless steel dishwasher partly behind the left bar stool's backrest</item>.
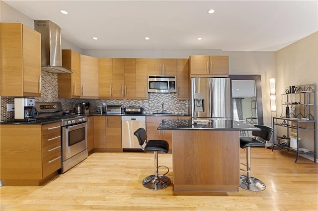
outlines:
M146 116L122 116L122 147L123 151L142 151L134 132L143 127L146 129Z

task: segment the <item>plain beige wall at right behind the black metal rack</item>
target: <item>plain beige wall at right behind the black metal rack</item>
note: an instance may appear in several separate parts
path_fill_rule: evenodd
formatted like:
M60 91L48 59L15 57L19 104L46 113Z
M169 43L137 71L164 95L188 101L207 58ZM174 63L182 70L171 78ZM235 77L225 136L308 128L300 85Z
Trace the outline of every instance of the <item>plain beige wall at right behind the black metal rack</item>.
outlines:
M281 94L285 93L287 87L299 84L318 84L318 32L276 52L276 71L277 115L280 115ZM316 98L316 105L318 105L317 103ZM283 110L284 112L285 110ZM302 147L313 150L313 132L301 131L300 135ZM318 137L318 131L316 131L316 137ZM318 152L318 146L316 152Z

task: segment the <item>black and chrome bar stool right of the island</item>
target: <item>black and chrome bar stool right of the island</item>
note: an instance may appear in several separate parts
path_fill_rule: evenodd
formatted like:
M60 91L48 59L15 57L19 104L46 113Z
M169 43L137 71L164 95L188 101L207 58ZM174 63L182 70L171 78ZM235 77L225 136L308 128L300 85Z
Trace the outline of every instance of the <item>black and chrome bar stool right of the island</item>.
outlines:
M240 137L239 146L242 149L246 148L246 164L241 163L246 166L246 170L240 169L247 172L247 176L240 175L239 187L244 188L249 191L263 191L266 185L255 177L250 176L250 148L265 148L266 141L269 141L273 133L273 128L265 125L254 125L254 127L260 128L260 131L252 131L251 137ZM261 138L262 140L260 140Z

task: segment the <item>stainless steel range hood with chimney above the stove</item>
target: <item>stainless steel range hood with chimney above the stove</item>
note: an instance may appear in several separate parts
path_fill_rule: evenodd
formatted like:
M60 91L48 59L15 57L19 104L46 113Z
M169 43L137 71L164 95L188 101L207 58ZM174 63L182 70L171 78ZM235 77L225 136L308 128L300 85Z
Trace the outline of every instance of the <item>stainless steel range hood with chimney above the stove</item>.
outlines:
M62 66L61 27L50 20L34 20L34 30L41 33L42 70L73 73Z

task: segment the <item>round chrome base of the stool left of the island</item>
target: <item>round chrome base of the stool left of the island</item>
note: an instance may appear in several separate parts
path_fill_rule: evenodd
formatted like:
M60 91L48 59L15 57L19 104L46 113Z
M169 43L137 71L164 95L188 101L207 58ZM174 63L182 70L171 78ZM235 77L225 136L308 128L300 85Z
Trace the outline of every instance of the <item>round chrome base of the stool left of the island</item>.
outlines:
M156 175L153 174L153 175L150 175L148 177L146 177L144 180L143 180L143 186L145 188L148 188L148 189L151 189L151 190L163 190L167 187L169 187L171 184L171 180L169 179L169 177L167 176L159 176L157 179L156 179Z

